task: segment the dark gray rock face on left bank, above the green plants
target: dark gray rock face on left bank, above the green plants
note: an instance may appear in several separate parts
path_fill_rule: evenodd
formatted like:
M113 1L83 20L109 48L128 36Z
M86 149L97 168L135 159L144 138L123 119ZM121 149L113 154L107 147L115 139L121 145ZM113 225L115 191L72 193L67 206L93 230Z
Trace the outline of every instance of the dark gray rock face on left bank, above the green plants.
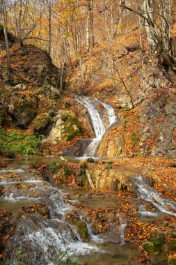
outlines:
M26 128L35 116L38 100L35 94L14 94L8 105L9 116L19 128Z

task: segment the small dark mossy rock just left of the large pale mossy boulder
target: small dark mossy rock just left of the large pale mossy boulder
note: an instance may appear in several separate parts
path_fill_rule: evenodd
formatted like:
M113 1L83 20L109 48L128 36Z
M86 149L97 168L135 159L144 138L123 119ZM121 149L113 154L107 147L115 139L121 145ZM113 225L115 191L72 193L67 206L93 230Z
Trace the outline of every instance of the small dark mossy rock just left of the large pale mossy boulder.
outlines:
M47 112L40 113L38 116L35 117L33 121L33 132L35 135L45 135L46 128L49 126L50 122L50 115Z

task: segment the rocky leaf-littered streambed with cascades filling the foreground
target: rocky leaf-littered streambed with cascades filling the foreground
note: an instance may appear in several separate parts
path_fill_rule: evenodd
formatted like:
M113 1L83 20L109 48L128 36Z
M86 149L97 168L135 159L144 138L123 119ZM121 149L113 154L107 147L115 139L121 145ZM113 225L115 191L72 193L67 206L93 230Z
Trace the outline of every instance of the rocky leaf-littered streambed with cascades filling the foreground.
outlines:
M167 264L166 253L175 251L175 203L136 169L13 160L0 169L0 181L1 264L67 264L74 255L78 264Z

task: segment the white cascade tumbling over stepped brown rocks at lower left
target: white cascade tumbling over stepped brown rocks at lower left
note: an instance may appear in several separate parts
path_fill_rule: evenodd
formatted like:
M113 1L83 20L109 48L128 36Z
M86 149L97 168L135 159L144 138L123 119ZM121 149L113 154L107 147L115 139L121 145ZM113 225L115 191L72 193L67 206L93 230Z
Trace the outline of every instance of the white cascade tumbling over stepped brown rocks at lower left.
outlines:
M11 181L13 172L19 174L15 174ZM5 177L6 182L3 181ZM17 184L20 188L17 188ZM4 264L18 264L18 257L15 254L17 250L22 255L26 253L25 264L44 265L55 264L52 261L56 255L65 250L67 255L101 252L95 245L83 242L77 229L65 220L65 215L74 207L67 203L67 199L58 188L38 179L38 176L12 168L1 170L0 185L3 186L4 192L3 197L0 197L1 206L10 208L14 216L15 207L20 209L23 206L24 209L24 212L16 217L15 232L8 241ZM36 202L47 207L49 218L45 219L38 211L33 211L32 214L26 212L24 207Z

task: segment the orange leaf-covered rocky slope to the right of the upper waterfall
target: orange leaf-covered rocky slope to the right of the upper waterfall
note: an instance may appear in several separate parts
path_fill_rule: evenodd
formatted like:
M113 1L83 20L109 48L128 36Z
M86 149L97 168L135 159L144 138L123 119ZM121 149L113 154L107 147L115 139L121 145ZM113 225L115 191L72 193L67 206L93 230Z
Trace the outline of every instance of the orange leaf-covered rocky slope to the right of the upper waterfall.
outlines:
M79 95L111 103L122 121L104 136L99 156L174 158L175 73L164 68L159 54L150 55L145 34L143 46L139 39L134 29L119 36L111 49L106 43L95 45L83 57L83 73L79 66L74 69L71 86Z

